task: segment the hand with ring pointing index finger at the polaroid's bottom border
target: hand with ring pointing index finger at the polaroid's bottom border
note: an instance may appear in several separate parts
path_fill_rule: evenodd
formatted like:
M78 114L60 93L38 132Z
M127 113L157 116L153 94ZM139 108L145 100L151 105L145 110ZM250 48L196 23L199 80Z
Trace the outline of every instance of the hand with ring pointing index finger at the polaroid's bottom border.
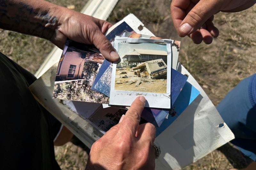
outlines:
M137 97L120 122L92 145L86 169L155 169L156 128L139 125L144 106L145 98Z

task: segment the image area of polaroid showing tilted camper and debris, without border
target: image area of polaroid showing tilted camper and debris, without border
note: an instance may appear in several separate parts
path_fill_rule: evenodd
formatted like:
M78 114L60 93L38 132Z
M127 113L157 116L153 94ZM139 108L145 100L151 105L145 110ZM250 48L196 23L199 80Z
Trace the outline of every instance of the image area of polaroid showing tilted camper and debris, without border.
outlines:
M115 90L166 93L167 48L154 43L119 43Z

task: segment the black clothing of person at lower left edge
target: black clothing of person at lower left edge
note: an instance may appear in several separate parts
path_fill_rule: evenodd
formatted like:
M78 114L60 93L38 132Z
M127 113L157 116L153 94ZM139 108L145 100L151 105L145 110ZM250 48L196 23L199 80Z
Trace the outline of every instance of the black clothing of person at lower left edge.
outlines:
M0 53L0 169L60 169L53 139L58 122L33 97L36 78Z

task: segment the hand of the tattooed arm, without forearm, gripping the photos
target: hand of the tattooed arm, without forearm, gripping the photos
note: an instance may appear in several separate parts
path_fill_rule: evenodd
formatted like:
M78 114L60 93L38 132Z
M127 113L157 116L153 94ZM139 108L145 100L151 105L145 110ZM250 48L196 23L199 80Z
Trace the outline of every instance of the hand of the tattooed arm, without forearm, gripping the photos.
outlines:
M112 24L66 8L62 8L59 13L63 15L59 20L60 26L51 39L55 45L63 48L66 39L69 38L84 44L94 44L105 58L111 61L118 60L119 55L104 35Z

